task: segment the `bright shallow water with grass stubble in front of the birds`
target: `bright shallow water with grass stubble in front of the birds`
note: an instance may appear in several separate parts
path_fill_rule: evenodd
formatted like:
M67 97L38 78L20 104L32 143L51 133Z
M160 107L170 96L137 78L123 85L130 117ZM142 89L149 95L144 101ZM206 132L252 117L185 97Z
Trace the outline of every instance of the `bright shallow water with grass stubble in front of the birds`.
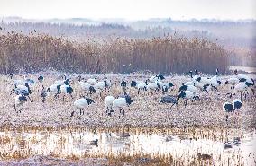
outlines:
M240 138L237 144L234 140ZM92 140L98 139L97 144ZM230 141L232 148L224 148ZM183 163L200 159L200 154L209 154L215 165L255 165L256 132L239 130L201 130L144 132L92 131L83 129L48 130L5 130L0 132L0 160L19 160L32 155L50 155L60 158L75 156L106 157L109 155L137 154L152 158L165 156Z

